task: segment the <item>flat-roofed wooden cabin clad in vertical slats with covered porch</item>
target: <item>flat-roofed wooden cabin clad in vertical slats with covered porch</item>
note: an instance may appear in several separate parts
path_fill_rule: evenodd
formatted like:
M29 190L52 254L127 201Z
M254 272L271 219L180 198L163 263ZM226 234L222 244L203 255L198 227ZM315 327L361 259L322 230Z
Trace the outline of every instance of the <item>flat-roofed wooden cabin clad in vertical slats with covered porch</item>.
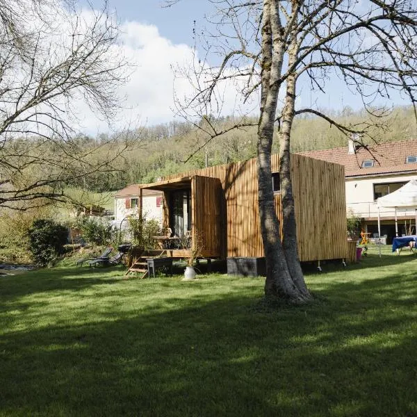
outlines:
M279 158L272 155L272 179L279 188ZM300 261L344 259L347 253L345 172L342 165L291 155ZM163 193L163 225L177 236L199 236L201 256L262 257L256 158L184 172L140 188ZM282 218L280 193L274 193ZM167 250L186 257L189 248Z

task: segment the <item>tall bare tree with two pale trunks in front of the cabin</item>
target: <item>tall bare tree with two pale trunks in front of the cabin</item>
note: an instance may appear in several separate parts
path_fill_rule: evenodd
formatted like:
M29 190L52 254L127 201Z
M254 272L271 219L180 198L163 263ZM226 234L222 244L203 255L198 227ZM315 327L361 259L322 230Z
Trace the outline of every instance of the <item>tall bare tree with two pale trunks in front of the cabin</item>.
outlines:
M168 6L178 0L168 2ZM297 255L295 211L291 183L290 142L293 120L311 113L322 117L359 145L369 137L370 124L345 126L315 105L297 108L300 86L311 95L332 95L336 80L361 98L373 116L375 106L389 105L391 94L416 102L417 8L414 0L208 0L216 13L204 31L206 58L196 60L188 76L196 92L179 101L188 119L222 111L224 85L234 80L241 103L259 97L259 211L267 261L265 295L294 302L311 298ZM196 36L200 31L195 31ZM214 58L213 58L214 57ZM334 88L334 87L333 87ZM283 97L281 102L279 97ZM182 97L181 97L182 99ZM312 102L315 102L313 100ZM390 107L390 106L388 106ZM222 133L207 118L206 142ZM238 127L238 125L236 125ZM270 155L274 131L279 137L282 243L272 194ZM324 226L324 225L323 225Z

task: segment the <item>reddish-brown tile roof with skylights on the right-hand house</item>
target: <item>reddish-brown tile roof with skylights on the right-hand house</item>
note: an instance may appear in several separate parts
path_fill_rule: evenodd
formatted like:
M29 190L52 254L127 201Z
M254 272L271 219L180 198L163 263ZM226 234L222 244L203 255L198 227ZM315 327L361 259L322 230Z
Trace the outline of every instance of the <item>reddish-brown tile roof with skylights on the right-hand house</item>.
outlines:
M347 153L347 145L343 148L300 152L300 154L345 165L346 177L417 171L417 163L406 163L407 156L417 156L417 139L369 145L368 149L357 149L354 154ZM363 161L371 159L375 161L374 166L363 168Z

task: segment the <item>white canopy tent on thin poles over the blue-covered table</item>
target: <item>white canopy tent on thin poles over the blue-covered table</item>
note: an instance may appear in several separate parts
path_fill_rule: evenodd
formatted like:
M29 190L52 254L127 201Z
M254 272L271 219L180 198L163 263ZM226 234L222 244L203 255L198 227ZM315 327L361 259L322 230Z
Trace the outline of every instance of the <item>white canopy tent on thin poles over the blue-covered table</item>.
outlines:
M381 237L380 207L393 207L395 209L395 236L398 236L397 208L414 208L417 227L417 180L411 179L404 186L393 193L377 199L378 206L378 237ZM417 229L416 229L417 234ZM380 247L379 247L380 250Z

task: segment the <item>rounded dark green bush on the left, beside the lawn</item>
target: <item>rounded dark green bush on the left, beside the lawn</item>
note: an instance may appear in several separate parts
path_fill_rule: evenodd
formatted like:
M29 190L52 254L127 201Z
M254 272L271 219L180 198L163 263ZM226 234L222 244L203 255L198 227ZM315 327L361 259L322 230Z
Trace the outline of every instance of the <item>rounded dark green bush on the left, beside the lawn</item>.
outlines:
M63 224L52 220L35 220L28 229L29 249L37 265L47 266L57 256L63 254L67 243L68 230Z

